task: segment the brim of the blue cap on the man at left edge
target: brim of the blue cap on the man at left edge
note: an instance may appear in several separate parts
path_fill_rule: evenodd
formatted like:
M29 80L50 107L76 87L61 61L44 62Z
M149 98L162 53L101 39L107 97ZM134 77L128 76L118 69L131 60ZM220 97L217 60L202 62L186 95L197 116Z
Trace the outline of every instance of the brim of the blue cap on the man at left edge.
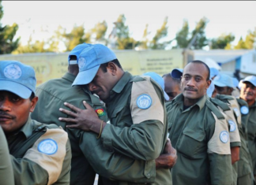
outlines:
M0 80L0 84L0 91L9 91L24 99L28 99L32 94L32 91L28 89L28 87L21 85L21 83L9 80Z

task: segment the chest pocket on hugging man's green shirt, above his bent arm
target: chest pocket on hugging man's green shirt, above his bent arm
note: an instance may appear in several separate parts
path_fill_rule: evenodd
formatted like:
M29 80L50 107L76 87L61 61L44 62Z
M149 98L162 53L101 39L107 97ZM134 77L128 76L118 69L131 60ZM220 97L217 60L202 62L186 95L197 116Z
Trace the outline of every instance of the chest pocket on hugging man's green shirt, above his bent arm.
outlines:
M111 124L119 127L130 127L133 121L130 116L130 108L128 105L116 107L111 113Z

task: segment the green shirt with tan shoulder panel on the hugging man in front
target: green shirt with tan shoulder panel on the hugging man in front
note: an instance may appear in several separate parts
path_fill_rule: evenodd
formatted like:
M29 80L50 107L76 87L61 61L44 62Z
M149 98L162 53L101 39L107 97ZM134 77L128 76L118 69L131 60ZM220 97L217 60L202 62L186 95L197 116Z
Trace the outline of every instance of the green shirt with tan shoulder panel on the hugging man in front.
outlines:
M149 76L131 76L125 72L104 101L111 124L101 134L107 150L152 163L164 150L168 127L161 87ZM145 176L150 178L152 169ZM154 184L170 184L169 169L156 170Z

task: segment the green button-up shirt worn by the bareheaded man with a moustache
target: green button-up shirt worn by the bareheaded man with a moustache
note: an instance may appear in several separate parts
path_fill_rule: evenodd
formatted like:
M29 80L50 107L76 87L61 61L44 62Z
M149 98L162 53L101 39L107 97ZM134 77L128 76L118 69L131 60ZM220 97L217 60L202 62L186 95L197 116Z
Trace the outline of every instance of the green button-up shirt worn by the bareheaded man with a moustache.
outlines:
M206 96L185 110L183 98L167 103L169 138L178 155L173 184L232 184L227 120Z

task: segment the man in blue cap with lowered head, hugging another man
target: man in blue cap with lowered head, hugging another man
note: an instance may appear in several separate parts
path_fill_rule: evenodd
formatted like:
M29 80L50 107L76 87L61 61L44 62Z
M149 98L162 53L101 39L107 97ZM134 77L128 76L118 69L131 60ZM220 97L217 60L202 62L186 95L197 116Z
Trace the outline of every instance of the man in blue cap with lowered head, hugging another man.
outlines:
M160 86L149 77L123 72L115 54L101 44L83 50L78 65L80 70L73 85L88 84L89 90L106 103L111 124L100 120L86 102L87 109L65 103L76 113L61 109L74 118L61 117L60 120L76 123L67 125L69 128L95 132L107 150L154 163L154 159L163 154L168 133L164 93ZM97 150L92 155L96 153ZM150 178L152 169L148 170L143 173ZM153 184L170 183L170 170L157 168Z

